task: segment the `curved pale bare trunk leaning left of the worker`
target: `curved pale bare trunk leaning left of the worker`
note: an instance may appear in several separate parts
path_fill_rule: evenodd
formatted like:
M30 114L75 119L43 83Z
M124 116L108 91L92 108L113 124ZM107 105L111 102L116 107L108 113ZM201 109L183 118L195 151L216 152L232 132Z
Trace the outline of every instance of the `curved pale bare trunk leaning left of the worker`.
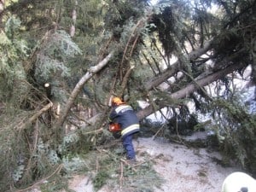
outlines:
M67 113L69 112L75 98L79 95L80 90L83 88L84 84L96 73L102 70L108 64L108 61L112 58L113 51L106 56L101 62L99 62L96 66L90 67L87 73L79 80L79 83L76 84L73 89L71 96L68 98L67 105L65 106L63 113L60 116L60 119L56 123L56 128L61 127L63 125L65 119L67 118Z

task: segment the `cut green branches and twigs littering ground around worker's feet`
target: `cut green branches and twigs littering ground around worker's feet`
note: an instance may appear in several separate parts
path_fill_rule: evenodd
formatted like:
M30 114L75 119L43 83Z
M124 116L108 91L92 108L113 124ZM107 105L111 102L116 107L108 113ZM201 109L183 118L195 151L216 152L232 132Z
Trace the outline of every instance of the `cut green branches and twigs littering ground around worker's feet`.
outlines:
M139 155L139 156L138 156ZM94 191L154 191L164 180L154 171L154 160L146 152L138 154L135 165L125 160L124 149L119 140L96 147L86 154L75 154L63 160L61 174L40 184L42 192L73 191L67 180L73 175L86 175L92 181ZM62 175L62 177L60 177Z

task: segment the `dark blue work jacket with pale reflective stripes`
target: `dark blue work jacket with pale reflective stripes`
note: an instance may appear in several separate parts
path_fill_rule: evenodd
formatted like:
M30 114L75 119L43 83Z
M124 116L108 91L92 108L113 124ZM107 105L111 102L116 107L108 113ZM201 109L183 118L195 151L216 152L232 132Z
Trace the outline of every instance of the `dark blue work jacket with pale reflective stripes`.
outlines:
M109 115L109 119L113 123L119 123L122 130L121 137L131 135L140 129L136 113L133 108L127 104L114 106Z

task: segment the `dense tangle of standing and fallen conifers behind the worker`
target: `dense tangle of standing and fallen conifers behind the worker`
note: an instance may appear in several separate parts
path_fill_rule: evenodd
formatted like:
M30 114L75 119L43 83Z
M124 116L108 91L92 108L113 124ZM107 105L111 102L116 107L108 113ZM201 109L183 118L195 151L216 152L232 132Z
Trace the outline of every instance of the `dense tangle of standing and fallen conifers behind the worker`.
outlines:
M171 131L194 119L256 174L255 114L236 84L255 84L255 0L1 0L0 58L2 191L106 143L110 96L142 123L165 108Z

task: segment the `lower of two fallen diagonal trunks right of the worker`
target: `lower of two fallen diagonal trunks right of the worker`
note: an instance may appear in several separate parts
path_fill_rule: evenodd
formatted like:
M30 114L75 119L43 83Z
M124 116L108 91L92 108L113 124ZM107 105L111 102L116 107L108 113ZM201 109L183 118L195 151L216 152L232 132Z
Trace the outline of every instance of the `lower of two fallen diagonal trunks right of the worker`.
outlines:
M186 87L184 87L181 90L178 90L175 93L172 93L170 96L172 99L181 99L185 96L189 96L192 92L195 90L201 89L201 87L206 86L207 84L211 84L213 81L216 81L218 79L221 79L225 75L234 72L237 69L240 69L241 67L245 67L244 63L239 63L237 65L231 65L229 67L224 68L223 70L220 70L216 73L212 73L208 75L205 78L196 80L195 83L188 84ZM158 108L153 108L151 105L149 105L147 108L144 108L143 110L137 112L137 117L139 119L146 118L151 113L154 113L154 110L160 110L161 108L165 108L166 105L164 103L160 103Z

